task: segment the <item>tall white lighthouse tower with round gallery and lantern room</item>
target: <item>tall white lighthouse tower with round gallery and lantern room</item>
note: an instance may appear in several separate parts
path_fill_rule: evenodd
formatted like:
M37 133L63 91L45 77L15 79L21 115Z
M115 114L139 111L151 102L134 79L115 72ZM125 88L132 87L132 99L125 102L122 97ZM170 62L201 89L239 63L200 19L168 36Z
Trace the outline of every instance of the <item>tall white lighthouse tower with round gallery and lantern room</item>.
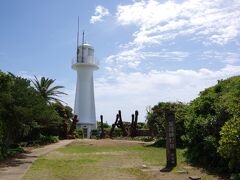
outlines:
M93 71L98 69L98 63L94 58L94 48L84 43L84 33L82 45L77 46L72 69L77 71L74 105L74 113L79 118L77 127L83 128L89 138L91 130L96 128Z

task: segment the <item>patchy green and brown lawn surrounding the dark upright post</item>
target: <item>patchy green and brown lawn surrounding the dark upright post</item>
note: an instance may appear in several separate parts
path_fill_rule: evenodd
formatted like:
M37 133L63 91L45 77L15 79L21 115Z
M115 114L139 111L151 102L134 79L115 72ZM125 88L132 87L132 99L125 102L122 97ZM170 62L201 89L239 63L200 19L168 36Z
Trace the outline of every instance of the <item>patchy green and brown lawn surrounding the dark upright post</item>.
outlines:
M162 173L164 148L136 142L125 145L112 140L82 140L42 156L23 179L187 179L190 175L217 179L189 166L183 154L184 150L178 149L177 167Z

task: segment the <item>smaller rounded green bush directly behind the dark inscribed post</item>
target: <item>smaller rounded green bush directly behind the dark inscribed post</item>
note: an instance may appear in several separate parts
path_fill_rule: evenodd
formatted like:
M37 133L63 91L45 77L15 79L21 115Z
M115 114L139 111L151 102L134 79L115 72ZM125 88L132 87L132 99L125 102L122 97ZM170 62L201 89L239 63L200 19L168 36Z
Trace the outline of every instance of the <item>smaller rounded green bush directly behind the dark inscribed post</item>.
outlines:
M173 110L176 118L176 142L178 146L183 146L181 136L185 134L184 121L187 114L187 105L181 102L170 103L160 102L154 106L147 114L147 126L152 132L153 136L165 140L165 112L166 110Z

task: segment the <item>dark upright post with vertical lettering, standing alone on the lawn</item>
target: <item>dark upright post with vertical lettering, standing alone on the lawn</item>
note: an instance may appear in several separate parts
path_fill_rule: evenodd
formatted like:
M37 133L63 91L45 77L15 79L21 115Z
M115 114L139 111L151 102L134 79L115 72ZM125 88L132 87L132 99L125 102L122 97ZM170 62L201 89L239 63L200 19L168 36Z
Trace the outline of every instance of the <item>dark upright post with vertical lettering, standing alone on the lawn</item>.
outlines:
M167 167L177 165L176 155L176 128L175 128L175 113L171 110L166 110L166 155Z

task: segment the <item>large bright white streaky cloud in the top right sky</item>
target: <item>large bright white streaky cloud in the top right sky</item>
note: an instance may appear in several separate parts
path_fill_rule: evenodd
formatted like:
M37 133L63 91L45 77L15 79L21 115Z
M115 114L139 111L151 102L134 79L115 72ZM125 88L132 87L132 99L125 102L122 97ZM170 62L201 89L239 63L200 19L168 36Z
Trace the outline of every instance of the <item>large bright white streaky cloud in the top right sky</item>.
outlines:
M133 43L138 45L159 44L189 34L224 45L239 35L239 9L237 0L142 0L119 5L116 17L121 25L139 28L133 35Z

